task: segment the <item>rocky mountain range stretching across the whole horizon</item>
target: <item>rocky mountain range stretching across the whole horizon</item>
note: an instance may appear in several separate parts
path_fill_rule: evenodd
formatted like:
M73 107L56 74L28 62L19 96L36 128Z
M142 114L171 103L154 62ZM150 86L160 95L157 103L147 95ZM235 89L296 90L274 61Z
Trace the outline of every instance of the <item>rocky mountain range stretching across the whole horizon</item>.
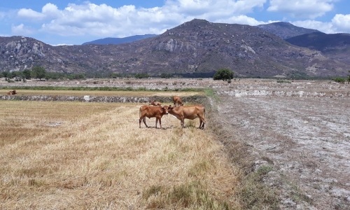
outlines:
M349 34L340 42L308 44L305 37L315 33L321 32L283 22L253 27L194 19L158 36L120 44L52 46L25 36L0 37L0 71L43 66L63 73L204 77L228 68L235 76L250 78L346 76Z

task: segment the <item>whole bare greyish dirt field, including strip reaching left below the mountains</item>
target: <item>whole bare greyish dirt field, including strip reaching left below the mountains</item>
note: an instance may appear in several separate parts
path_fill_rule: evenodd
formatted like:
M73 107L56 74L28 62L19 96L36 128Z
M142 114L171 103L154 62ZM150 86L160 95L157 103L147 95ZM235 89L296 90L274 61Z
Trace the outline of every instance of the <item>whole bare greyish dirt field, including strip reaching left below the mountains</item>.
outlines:
M263 181L278 192L279 209L350 209L350 85L277 81L115 79L25 85L212 88L218 97L211 97L214 114L207 127L225 130L225 139L218 139L223 144L246 145L252 170L272 166ZM235 147L228 152L235 153Z

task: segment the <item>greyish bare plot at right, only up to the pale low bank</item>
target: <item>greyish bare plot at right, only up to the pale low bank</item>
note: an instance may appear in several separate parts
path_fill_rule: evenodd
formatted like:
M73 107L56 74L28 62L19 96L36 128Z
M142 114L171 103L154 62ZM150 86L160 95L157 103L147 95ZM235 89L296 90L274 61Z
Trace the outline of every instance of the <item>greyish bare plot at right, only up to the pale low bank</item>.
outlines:
M218 113L253 147L281 209L350 209L350 98L231 97ZM266 161L271 160L271 161Z

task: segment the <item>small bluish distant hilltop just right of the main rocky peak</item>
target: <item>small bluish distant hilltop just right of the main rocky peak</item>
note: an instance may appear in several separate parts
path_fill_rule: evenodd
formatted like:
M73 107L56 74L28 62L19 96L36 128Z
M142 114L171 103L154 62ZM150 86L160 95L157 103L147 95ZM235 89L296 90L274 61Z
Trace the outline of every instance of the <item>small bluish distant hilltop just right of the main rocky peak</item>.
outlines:
M290 24L289 22L272 22L266 25L258 25L256 26L264 31L268 31L276 36L279 36L283 39L290 38L293 36L299 36L302 34L309 34L312 32L319 32L315 29L306 29L303 27L297 27L295 25Z

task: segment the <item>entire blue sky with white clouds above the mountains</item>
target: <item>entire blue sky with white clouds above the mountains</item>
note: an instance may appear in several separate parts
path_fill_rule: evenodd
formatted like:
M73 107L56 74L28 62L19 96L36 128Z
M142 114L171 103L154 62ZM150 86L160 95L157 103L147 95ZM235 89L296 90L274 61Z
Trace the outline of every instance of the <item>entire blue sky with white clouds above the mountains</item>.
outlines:
M327 34L350 33L349 0L9 0L0 3L0 36L50 45L162 34L194 18L260 25L290 22Z

